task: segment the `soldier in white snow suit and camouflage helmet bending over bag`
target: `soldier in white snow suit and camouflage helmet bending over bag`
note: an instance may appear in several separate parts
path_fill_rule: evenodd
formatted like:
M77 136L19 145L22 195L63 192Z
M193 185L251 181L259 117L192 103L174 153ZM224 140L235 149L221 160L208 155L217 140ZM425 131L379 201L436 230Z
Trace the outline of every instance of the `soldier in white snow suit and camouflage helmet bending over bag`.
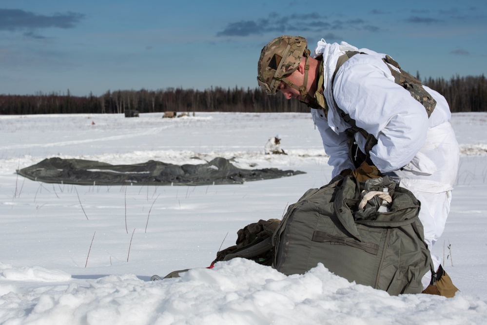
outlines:
M311 53L299 36L264 46L257 81L268 95L280 91L311 108L332 177L389 175L413 192L432 248L445 227L459 161L443 96L385 54L324 39ZM424 292L452 297L458 289L431 255L437 275L425 275Z

